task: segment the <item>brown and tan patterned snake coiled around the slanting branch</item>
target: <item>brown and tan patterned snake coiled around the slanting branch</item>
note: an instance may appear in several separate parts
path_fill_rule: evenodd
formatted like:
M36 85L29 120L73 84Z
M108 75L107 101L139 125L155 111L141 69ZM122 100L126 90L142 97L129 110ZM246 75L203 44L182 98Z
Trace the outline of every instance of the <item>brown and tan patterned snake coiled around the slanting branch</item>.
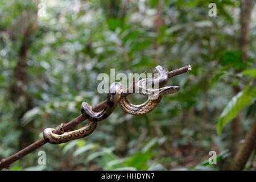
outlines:
M123 85L121 82L113 82L109 88L109 94L106 101L106 106L103 110L99 112L94 112L92 106L86 102L81 104L82 115L89 120L85 127L77 129L74 131L64 132L62 123L60 125L61 135L55 134L55 129L47 128L43 131L43 137L46 142L52 144L65 143L70 140L83 138L91 134L97 126L97 122L101 121L114 111L118 104L121 105L123 111L133 115L147 114L156 106L162 99L162 96L167 94L175 93L179 90L179 86L165 86L162 87L168 81L168 71L162 66L158 65L154 68L153 73L155 74L153 78L145 78L135 84L135 89L139 91L140 94L148 97L148 100L141 105L134 105L126 98L121 98L123 92ZM158 84L159 88L149 89Z

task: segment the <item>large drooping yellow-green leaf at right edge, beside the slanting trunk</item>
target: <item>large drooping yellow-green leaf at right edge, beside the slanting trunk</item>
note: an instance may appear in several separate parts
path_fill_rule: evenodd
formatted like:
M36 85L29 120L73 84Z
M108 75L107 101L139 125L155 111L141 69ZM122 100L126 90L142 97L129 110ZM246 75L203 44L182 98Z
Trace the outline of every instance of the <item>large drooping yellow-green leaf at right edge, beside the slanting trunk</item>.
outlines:
M237 114L256 96L256 87L251 88L250 85L247 85L245 89L229 101L228 105L224 108L220 115L220 119L218 119L217 125L217 133L221 134L222 129L226 126L228 122L237 117Z

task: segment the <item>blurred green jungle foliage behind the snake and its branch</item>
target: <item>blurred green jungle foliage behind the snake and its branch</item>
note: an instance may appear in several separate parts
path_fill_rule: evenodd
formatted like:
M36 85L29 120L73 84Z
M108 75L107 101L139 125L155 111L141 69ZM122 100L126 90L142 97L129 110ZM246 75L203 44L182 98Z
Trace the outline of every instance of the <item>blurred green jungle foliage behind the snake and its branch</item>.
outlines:
M251 0L1 0L0 159L76 118L82 101L104 101L97 76L110 68L127 75L192 65L168 81L179 92L151 113L118 106L88 137L45 144L9 170L228 170L256 122L255 39ZM243 169L256 169L255 150Z

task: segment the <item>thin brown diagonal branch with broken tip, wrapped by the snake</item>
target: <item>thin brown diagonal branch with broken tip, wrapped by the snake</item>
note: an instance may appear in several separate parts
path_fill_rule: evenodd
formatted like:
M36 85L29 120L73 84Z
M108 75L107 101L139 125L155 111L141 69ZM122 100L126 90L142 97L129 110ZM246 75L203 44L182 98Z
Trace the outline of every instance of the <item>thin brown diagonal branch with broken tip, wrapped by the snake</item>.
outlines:
M175 69L174 71L168 72L168 77L171 78L171 77L174 77L176 75L180 75L182 73L188 72L189 70L191 70L191 65L188 65L186 67ZM127 92L123 93L121 97L125 97L128 94L132 93L132 92L128 92L128 90L130 91L131 88L134 88L134 86L131 85L129 88L127 88ZM100 110L104 109L105 105L106 105L106 101L103 101L100 104L97 104L96 106L94 106L93 110L94 111L100 111ZM83 117L82 115L79 115L79 117L77 117L77 118L73 119L72 121L68 122L67 124L65 124L64 125L64 130L65 131L71 130L77 124L85 121L85 119L86 119L85 117ZM56 134L61 134L60 129L57 129L55 131L55 133ZM0 170L2 170L3 168L9 168L10 164L14 163L16 160L19 160L19 159L23 158L23 156L25 156L27 154L30 154L30 152L36 150L37 148L43 146L44 144L46 144L46 141L44 140L44 138L42 138L42 139L30 144L30 146L27 146L23 150L20 150L16 154L9 156L9 158L2 159L0 161Z

